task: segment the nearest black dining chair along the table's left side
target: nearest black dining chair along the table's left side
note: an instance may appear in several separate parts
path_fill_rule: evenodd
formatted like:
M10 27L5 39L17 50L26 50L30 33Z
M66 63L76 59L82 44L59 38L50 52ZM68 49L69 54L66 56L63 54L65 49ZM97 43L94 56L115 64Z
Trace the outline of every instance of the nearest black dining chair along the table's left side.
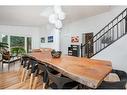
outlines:
M48 75L48 80L51 80L51 83L48 82L48 86L51 89L75 89L78 88L78 84L77 82L75 82L74 80L65 77L63 75L59 75L59 74L53 74L50 71L50 67L45 68L46 73Z

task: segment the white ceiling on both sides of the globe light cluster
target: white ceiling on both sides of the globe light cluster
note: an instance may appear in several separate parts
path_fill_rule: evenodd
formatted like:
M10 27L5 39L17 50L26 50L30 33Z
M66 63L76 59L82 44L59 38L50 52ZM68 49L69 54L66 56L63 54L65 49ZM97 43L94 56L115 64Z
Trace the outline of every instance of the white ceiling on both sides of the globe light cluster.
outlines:
M1 25L42 26L48 23L53 6L0 6ZM111 6L62 6L65 24L107 12Z

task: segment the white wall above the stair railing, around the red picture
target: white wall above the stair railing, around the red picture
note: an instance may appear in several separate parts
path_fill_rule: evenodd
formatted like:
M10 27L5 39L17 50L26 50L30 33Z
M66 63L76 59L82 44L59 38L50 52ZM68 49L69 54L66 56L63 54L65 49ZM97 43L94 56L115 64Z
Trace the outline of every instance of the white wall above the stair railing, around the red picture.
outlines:
M82 42L82 33L99 32L106 24L108 24L113 18L115 18L126 7L113 7L110 11L100 15L89 17L87 19L81 19L76 22L67 24L64 30L61 32L61 50L64 54L67 54L67 47L70 46L71 37L79 36L79 43Z

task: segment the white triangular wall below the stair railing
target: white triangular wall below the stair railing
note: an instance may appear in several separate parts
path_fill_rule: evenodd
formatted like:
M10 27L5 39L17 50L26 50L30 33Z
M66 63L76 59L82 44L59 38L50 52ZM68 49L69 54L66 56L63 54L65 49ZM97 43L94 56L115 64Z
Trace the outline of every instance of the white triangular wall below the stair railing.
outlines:
M107 47L93 58L112 61L113 68L127 72L127 35Z

